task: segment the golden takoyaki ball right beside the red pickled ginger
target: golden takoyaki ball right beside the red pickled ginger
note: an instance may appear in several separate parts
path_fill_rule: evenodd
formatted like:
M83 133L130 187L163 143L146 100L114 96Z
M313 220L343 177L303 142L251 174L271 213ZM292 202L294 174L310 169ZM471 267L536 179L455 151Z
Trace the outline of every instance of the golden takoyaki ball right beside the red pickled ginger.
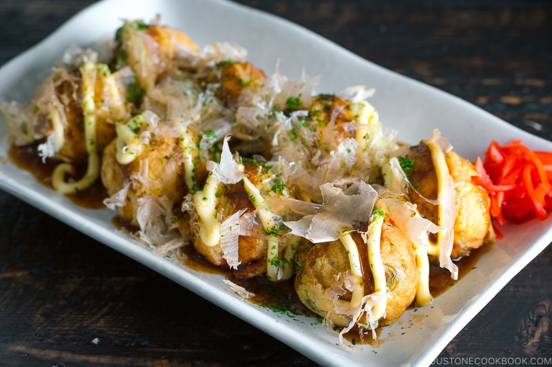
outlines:
M420 144L411 147L403 160L403 169L411 181L415 191L408 194L411 202L417 205L420 213L428 220L438 224L438 207L427 202L418 195L428 199L437 198L437 175L427 145ZM477 171L469 162L455 151L446 154L446 165L455 182L457 194L457 217L454 223L454 244L451 258L468 255L472 249L482 244L494 242L495 233L489 214L489 195L475 185L471 176L477 176ZM417 192L416 192L417 191Z

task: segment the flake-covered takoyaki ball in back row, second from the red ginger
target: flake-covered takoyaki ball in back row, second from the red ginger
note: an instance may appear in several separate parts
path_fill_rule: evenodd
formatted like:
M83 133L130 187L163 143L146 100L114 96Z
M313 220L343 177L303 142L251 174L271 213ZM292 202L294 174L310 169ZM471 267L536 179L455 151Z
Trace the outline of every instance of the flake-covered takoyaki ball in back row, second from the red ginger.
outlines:
M398 146L395 134L382 129L375 108L331 94L313 96L306 106L299 97L286 101L291 128L275 130L269 139L273 154L339 187L366 177L380 182L384 157Z

